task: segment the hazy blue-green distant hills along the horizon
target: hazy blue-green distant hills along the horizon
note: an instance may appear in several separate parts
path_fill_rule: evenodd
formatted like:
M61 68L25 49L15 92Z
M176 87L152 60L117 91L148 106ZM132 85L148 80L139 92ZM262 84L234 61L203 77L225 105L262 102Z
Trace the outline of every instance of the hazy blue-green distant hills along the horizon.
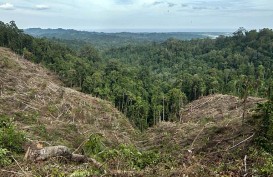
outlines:
M229 35L229 33L226 32L103 33L77 31L73 29L62 28L58 29L29 28L25 29L24 32L35 37L71 40L72 43L77 43L76 41L78 41L77 45L82 45L83 42L88 44L91 43L97 48L111 48L125 46L128 44L164 42L169 38L175 38L179 40L191 40L201 38L216 38L219 35Z

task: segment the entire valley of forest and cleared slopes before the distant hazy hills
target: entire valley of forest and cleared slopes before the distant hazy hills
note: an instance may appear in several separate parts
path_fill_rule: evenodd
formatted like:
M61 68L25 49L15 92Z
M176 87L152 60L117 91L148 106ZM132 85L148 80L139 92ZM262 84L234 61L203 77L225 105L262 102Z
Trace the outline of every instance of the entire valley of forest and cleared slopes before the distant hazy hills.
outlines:
M0 23L0 176L272 174L272 30L110 48L78 35ZM56 146L93 161L28 158Z

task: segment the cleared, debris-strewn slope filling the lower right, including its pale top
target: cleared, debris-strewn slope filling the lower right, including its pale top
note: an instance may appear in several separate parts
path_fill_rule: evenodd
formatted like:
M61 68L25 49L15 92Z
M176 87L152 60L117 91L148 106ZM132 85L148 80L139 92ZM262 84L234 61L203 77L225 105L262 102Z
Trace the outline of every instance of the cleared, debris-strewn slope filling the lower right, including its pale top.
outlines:
M255 174L262 161L251 152L257 132L252 115L256 104L264 101L247 99L242 124L241 99L221 94L202 97L183 109L181 123L159 123L147 131L146 141L142 140L139 146L156 149L171 159L172 168L156 170L162 176ZM244 158L248 158L248 172Z

